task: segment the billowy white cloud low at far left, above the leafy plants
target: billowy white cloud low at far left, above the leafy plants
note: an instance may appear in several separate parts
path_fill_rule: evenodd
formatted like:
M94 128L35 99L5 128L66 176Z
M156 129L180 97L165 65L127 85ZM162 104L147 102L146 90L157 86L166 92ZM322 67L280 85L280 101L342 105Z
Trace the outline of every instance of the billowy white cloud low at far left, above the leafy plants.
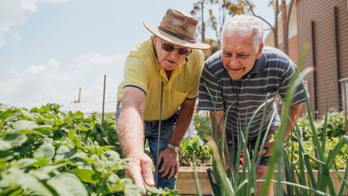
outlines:
M0 78L0 102L27 107L67 101L70 92L64 89L74 82L74 77L61 71L59 62L52 58L22 70L10 68L0 73Z

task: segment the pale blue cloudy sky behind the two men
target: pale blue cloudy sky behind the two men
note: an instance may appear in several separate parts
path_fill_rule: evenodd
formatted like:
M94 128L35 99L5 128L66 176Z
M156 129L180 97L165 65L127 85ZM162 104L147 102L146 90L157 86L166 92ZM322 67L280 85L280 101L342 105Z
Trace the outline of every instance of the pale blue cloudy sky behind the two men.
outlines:
M142 20L157 25L167 8L189 12L195 1L0 0L0 102L66 106L79 87L81 102L101 102L104 74L114 100L127 52L150 36ZM267 1L254 0L255 12L272 21Z

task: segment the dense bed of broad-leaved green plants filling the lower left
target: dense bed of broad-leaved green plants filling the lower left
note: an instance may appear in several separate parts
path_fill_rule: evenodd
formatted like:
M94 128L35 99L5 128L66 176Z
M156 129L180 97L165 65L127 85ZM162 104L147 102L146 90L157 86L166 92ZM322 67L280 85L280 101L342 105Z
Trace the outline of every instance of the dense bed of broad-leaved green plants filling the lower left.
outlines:
M115 151L113 114L101 127L96 114L59 107L0 107L0 194L141 195L124 177L129 160ZM155 195L176 195L168 192Z

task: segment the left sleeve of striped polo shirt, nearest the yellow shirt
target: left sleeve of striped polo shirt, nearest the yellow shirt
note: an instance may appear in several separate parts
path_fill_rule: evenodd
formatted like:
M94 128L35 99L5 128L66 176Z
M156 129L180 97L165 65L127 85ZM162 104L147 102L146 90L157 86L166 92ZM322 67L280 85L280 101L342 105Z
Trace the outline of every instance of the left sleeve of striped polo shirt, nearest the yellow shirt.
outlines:
M198 109L223 110L224 108L222 90L216 72L221 70L216 70L215 66L208 62L204 63L199 80Z

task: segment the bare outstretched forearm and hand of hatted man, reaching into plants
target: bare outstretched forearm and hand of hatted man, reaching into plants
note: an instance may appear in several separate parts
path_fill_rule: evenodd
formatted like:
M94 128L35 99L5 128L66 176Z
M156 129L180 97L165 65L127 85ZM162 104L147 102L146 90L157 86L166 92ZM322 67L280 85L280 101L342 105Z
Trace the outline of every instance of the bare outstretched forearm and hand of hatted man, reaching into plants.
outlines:
M122 153L131 158L127 174L133 182L143 190L146 184L153 186L152 160L144 152L143 112L145 108L145 93L136 87L123 89L122 110L118 118L118 135Z

